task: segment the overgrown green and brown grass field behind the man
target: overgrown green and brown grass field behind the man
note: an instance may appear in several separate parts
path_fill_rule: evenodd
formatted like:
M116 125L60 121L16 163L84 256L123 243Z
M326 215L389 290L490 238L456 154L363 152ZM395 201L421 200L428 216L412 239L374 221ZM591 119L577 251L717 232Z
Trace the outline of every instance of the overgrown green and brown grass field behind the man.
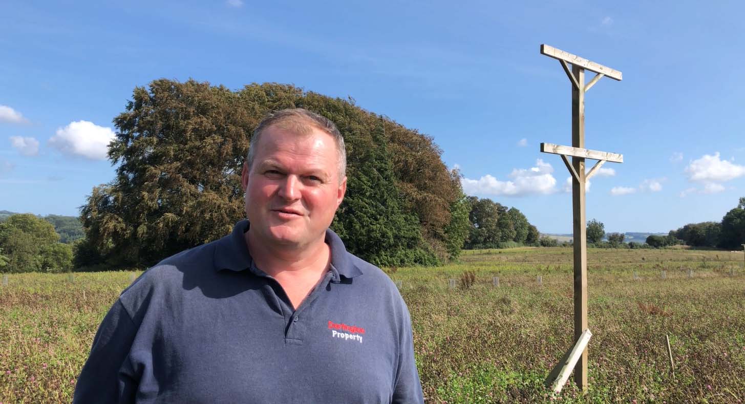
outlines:
M590 389L570 382L551 397L543 379L572 342L571 258L562 247L479 250L445 267L387 270L411 312L429 402L745 400L743 253L703 250L589 250ZM464 271L475 284L449 288ZM69 402L98 323L130 277L9 275L0 403Z

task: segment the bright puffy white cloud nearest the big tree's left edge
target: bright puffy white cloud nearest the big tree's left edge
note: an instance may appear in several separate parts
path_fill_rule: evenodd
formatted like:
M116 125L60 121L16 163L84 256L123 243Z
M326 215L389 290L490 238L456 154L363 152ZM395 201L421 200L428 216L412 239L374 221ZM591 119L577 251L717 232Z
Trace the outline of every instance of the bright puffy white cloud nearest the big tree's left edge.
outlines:
M105 160L109 142L114 137L114 132L109 127L98 126L89 121L74 121L57 129L57 134L49 139L49 145L63 154Z

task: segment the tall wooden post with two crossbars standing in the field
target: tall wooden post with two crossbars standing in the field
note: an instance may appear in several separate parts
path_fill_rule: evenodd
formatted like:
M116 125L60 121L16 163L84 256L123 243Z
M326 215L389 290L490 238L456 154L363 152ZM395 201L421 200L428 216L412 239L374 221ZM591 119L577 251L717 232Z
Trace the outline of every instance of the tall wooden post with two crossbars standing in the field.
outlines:
M624 162L621 154L595 151L585 148L585 93L600 78L621 81L618 70L602 66L583 57L562 51L549 45L541 45L541 54L559 60L571 83L571 147L541 143L541 151L559 154L571 174L571 195L574 233L574 341L580 341L588 329L587 323L587 220L585 190L589 177L596 174L604 162ZM568 64L571 64L571 70ZM585 70L595 72L595 77L585 83ZM571 156L571 163L567 156ZM589 172L585 171L585 160L598 160ZM635 276L636 277L636 276ZM574 382L582 391L587 391L587 347L584 345L574 367Z

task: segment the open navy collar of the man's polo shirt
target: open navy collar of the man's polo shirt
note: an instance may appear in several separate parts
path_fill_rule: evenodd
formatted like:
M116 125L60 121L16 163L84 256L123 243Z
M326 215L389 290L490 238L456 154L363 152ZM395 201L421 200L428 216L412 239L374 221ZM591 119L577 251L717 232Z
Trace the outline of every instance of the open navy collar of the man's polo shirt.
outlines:
M218 240L215 246L215 257L213 263L215 271L229 269L230 271L254 271L253 259L248 252L244 233L250 226L247 220L239 221L233 227L229 236ZM351 254L346 251L344 243L331 229L326 229L326 244L331 247L331 271L332 282L340 283L340 277L352 278L362 274L361 269L352 260ZM258 268L256 268L258 270ZM259 270L260 271L260 270Z

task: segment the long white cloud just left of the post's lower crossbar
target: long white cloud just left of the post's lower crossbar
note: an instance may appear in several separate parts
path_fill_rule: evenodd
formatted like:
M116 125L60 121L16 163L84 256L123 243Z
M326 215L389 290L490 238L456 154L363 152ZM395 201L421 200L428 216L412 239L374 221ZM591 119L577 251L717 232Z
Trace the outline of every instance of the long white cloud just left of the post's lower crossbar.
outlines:
M522 196L532 194L551 194L556 192L557 180L551 173L554 168L551 164L536 160L536 167L515 168L510 173L512 180L500 181L489 174L478 180L462 178L463 192L467 195L504 195Z

